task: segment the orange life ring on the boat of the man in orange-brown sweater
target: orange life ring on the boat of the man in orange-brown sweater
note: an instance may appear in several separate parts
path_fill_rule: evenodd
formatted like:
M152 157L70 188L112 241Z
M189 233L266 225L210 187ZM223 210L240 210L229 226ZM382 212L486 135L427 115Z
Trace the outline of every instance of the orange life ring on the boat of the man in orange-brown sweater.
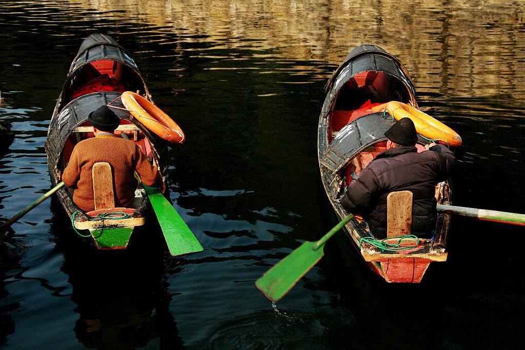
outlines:
M151 101L132 91L122 92L120 99L125 108L146 128L166 141L173 143L184 142L184 132L182 132L177 123Z

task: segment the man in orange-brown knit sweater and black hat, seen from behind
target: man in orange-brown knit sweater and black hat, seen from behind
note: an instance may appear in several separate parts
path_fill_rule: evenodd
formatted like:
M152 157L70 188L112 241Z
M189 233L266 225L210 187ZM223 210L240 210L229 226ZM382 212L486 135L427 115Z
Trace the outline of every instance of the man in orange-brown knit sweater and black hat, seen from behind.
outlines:
M111 165L117 207L131 206L137 189L135 171L145 185L160 187L164 193L166 185L162 175L139 146L113 134L120 120L112 110L103 105L89 114L88 121L93 126L95 137L82 140L75 146L62 174L64 184L75 189L73 201L80 209L95 210L92 169L97 162Z

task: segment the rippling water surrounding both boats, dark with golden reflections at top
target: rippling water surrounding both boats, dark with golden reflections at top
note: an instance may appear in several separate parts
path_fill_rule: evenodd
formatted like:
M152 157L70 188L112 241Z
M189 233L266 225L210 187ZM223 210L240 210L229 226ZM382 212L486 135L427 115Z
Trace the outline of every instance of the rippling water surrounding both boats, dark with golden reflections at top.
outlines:
M342 236L276 307L254 281L338 221L317 122L324 83L361 44L397 55L419 104L463 137L456 204L525 213L523 7L0 1L0 118L16 134L0 159L0 218L50 188L49 118L82 39L102 31L185 131L170 150L171 199L205 248L172 258L152 230L129 252L93 252L47 200L0 242L0 347L519 347L520 226L455 217L448 261L416 285L385 283Z

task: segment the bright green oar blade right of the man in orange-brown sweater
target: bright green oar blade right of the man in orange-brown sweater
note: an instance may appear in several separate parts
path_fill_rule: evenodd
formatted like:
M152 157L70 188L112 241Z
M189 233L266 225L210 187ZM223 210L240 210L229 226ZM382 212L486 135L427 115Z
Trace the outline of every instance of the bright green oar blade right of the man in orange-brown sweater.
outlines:
M174 257L203 251L201 243L195 238L193 232L178 215L169 201L160 193L158 188L144 185L151 206L166 239L170 254Z

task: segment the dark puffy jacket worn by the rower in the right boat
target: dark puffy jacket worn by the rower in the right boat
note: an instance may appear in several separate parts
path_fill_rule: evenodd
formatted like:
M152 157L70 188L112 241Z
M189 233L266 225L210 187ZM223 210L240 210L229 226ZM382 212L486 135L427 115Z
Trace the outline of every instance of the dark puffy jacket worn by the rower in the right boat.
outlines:
M341 199L352 214L364 215L375 238L386 237L386 196L409 190L413 194L412 233L432 234L436 225L435 186L455 167L454 155L444 145L417 153L415 146L395 147L378 154L353 181Z

